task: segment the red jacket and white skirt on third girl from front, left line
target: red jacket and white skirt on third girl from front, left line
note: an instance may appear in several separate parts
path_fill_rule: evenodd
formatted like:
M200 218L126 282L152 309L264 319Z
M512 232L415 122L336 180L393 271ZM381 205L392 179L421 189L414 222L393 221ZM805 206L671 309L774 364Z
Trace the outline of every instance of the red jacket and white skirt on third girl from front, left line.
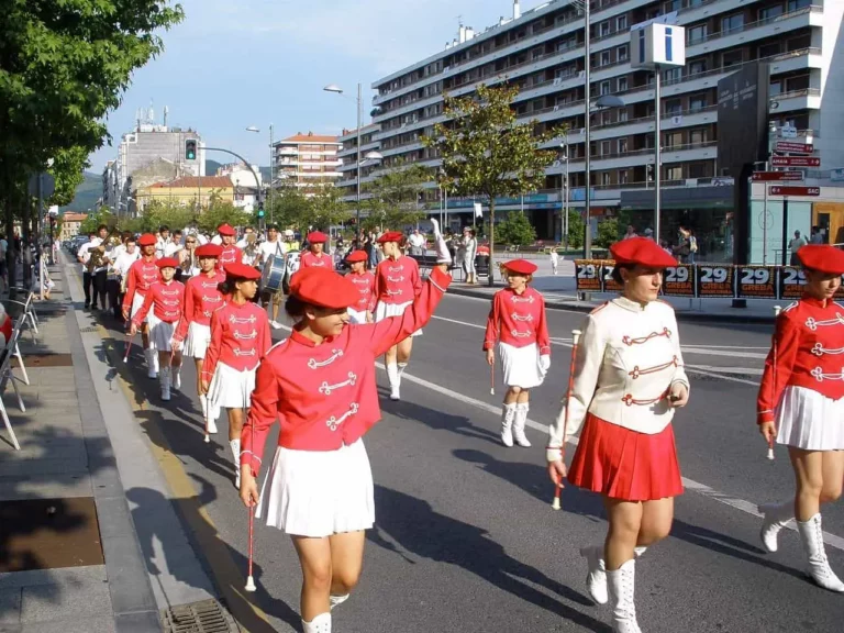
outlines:
M215 271L211 277L199 274L185 286L185 314L174 334L175 341L185 341L184 354L191 358L204 358L211 342L211 314L222 308L223 296L218 287L225 281L225 274Z

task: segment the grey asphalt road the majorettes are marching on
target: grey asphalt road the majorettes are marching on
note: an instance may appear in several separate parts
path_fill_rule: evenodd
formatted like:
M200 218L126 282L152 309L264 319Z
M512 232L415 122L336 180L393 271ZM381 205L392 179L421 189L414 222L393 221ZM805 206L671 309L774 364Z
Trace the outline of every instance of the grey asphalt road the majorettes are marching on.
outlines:
M384 419L366 437L377 526L368 533L362 584L335 611L336 631L610 631L609 607L589 600L578 556L581 545L603 538L600 500L567 487L563 511L552 511L541 431L564 393L567 342L584 315L549 311L553 365L532 397L534 446L508 449L498 440L500 396L489 393L480 351L487 311L486 301L443 301L415 341L401 402L386 398L379 375ZM841 631L844 597L804 579L797 534L784 532L774 555L758 545L755 504L787 497L793 486L785 451L766 460L754 424L769 331L679 327L685 360L696 368L690 404L675 419L687 492L677 499L671 536L637 563L640 624L649 633ZM136 358L132 389L136 400L149 400L141 423L164 434L219 538L245 566L246 511L232 482L225 423L203 444L192 368L184 371L182 393L162 408L157 381ZM834 542L831 563L844 575L842 503L824 512L824 528ZM256 526L255 576L252 599L271 625L298 631L299 566L275 529Z

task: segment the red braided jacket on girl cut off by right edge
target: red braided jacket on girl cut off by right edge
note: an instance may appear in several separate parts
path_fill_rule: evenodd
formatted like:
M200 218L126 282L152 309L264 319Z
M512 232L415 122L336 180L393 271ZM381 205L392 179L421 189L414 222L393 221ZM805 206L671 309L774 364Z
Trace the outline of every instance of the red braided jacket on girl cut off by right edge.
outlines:
M844 307L803 297L780 312L759 385L759 424L774 421L788 386L844 397Z

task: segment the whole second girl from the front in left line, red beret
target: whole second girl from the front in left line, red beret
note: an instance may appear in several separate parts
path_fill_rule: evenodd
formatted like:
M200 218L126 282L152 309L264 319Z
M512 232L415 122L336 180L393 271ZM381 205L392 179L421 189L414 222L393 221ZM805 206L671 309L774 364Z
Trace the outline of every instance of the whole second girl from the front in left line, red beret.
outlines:
M255 369L271 345L267 313L252 299L258 291L260 273L236 263L225 267L220 291L231 298L211 315L211 343L202 362L202 392L208 397L208 417L216 420L220 408L229 411L229 444L240 488L241 429L244 409L255 389Z

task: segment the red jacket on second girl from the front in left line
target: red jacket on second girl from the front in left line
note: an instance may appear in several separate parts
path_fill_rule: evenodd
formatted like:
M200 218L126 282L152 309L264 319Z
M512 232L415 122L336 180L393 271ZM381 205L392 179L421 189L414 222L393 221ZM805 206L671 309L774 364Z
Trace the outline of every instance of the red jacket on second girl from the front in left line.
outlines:
M232 369L255 369L273 343L267 313L252 301L229 302L211 315L211 343L202 363L202 378L211 380L216 363Z

